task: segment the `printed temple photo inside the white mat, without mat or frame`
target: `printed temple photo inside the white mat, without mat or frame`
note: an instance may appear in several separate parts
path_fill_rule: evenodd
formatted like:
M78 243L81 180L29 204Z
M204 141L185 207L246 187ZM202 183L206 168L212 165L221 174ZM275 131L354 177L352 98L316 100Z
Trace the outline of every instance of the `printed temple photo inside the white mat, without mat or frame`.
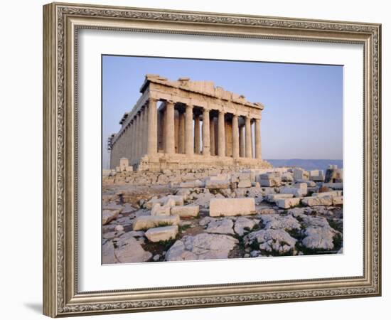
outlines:
M343 253L343 66L102 55L102 264Z

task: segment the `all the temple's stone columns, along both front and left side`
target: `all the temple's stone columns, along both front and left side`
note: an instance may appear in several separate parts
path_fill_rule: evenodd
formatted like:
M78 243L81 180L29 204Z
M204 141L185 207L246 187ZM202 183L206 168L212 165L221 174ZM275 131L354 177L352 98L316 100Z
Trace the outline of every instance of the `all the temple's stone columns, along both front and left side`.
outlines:
M130 124L127 125L122 133L124 134L124 139L117 140L117 143L112 146L114 149L117 149L112 154L118 155L119 158L123 156L127 157L131 164L135 164L141 156L145 154L152 156L158 152L159 124L157 101L156 99L149 98L148 103L134 114ZM163 148L166 154L175 154L177 143L178 153L189 156L194 153L201 154L201 151L205 156L227 156L227 151L234 159L240 157L261 159L259 119L253 120L255 122L255 144L253 151L250 117L245 117L245 125L240 126L238 115L233 114L231 132L231 130L227 130L230 129L230 126L226 126L225 112L218 110L216 126L215 118L210 118L210 110L204 108L201 129L200 113L193 112L193 105L186 105L185 112L178 113L178 123L176 124L174 102L168 101L165 104ZM178 130L178 132L175 132L175 130ZM230 147L230 149L226 149L227 139L225 136L227 134L232 134L232 154ZM202 137L202 146L200 137ZM215 139L218 139L218 141L215 141Z

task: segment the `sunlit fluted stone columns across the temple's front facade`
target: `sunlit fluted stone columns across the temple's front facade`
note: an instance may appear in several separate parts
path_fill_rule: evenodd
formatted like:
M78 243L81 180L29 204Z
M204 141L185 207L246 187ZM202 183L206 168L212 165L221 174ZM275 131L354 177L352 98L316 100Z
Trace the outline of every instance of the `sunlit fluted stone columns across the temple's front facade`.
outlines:
M158 151L158 125L157 125L157 106L156 100L150 98L148 104L148 132L147 137L147 153L149 155L156 154ZM175 153L175 105L174 102L166 102L166 112L164 112L164 152L166 154ZM141 122L143 122L141 118ZM138 122L136 122L137 124ZM186 105L186 111L179 114L178 117L178 152L188 155L200 154L200 116L194 116L193 130L193 106ZM137 127L136 127L137 130ZM141 132L141 130L137 130ZM136 131L136 132L137 132ZM184 132L184 137L183 134ZM145 137L145 136L144 136ZM136 144L142 142L143 137L139 137ZM245 140L244 140L245 139ZM203 126L202 126L202 153L209 156L215 154L215 126L210 122L209 110L203 109ZM139 147L136 146L136 149ZM183 150L184 149L184 150ZM218 110L218 156L225 156L225 112ZM245 117L245 134L242 128L239 128L238 116L234 114L232 117L232 157L252 158L252 129L250 117ZM255 119L255 158L261 159L261 137L259 119Z

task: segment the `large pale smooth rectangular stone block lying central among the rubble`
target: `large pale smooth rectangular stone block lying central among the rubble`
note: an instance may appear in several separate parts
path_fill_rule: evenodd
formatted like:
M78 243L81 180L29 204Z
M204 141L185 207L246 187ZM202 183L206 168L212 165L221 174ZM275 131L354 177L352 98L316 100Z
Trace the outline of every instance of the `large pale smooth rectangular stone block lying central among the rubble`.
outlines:
M209 215L211 217L255 214L254 198L211 199Z

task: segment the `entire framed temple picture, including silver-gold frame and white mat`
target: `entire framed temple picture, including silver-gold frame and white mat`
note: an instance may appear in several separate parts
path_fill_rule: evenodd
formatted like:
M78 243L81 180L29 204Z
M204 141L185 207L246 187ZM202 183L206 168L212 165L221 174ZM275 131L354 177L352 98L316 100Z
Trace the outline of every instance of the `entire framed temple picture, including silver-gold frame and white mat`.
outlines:
M43 6L43 313L381 294L377 23Z

